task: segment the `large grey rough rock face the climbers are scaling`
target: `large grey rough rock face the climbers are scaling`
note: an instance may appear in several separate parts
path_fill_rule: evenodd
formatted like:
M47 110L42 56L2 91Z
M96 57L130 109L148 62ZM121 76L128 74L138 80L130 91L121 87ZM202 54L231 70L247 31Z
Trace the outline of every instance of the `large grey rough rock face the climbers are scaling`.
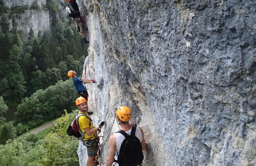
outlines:
M80 3L87 78L97 79L98 123L108 122L101 165L120 106L144 129L143 165L256 164L255 1Z

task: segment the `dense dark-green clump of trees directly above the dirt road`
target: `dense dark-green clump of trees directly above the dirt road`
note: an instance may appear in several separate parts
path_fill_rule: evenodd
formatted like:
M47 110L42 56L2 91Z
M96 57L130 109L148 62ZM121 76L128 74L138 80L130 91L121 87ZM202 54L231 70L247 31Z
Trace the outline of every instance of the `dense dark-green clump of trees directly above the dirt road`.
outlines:
M28 124L29 129L62 115L63 110L71 111L76 97L72 80L59 81L46 90L38 90L25 98L17 107L16 122Z

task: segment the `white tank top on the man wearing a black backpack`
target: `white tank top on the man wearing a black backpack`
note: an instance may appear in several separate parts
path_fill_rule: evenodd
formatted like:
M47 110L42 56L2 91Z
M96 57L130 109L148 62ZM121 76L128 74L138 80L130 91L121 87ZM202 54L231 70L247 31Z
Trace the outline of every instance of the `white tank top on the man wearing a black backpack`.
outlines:
M126 133L127 133L128 135L131 135L131 132L132 132L132 128L131 128L129 131L127 131ZM115 137L116 137L116 154L115 154L115 160L117 160L117 154L119 154L119 151L120 151L120 148L121 148L121 145L122 145L122 142L123 142L125 136L124 136L123 134L119 133L119 132L114 133L114 135L115 135ZM140 132L139 127L136 127L135 136L136 136L137 138L139 138L140 143L141 143L141 141L142 141L142 134L141 134L141 132ZM118 166L118 163L115 163L115 166Z

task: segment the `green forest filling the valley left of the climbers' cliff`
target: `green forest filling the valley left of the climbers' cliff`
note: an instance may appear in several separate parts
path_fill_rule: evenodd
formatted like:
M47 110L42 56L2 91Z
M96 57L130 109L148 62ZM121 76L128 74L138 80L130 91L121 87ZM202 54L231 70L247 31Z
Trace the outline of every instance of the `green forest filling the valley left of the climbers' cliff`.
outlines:
M3 1L0 0L3 6ZM66 4L63 4L66 5ZM28 37L17 30L14 18L26 10L49 10L51 30ZM65 129L72 121L78 97L69 70L82 75L88 44L69 17L57 19L58 5L14 6L0 9L0 165L79 165L78 141ZM12 20L12 29L8 20ZM85 50L85 51L83 51ZM6 121L8 110L17 110ZM29 131L52 120L56 123L38 134Z

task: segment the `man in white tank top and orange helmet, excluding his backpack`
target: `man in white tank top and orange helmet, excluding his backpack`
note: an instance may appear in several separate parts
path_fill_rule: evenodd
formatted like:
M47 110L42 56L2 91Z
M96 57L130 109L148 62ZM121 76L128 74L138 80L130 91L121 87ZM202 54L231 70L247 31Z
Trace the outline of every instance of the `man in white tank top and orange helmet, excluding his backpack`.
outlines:
M131 121L132 111L125 106L119 107L116 111L116 118L121 126L121 130L125 131L128 135L131 134L132 126L136 126L134 121ZM131 124L129 124L129 121ZM136 127L135 136L141 142L142 150L146 149L146 142L144 139L144 132L141 127ZM109 138L109 152L106 160L105 166L112 166L113 162L117 160L117 154L119 154L121 144L125 136L119 132L114 133ZM118 166L118 163L115 162L115 166Z

